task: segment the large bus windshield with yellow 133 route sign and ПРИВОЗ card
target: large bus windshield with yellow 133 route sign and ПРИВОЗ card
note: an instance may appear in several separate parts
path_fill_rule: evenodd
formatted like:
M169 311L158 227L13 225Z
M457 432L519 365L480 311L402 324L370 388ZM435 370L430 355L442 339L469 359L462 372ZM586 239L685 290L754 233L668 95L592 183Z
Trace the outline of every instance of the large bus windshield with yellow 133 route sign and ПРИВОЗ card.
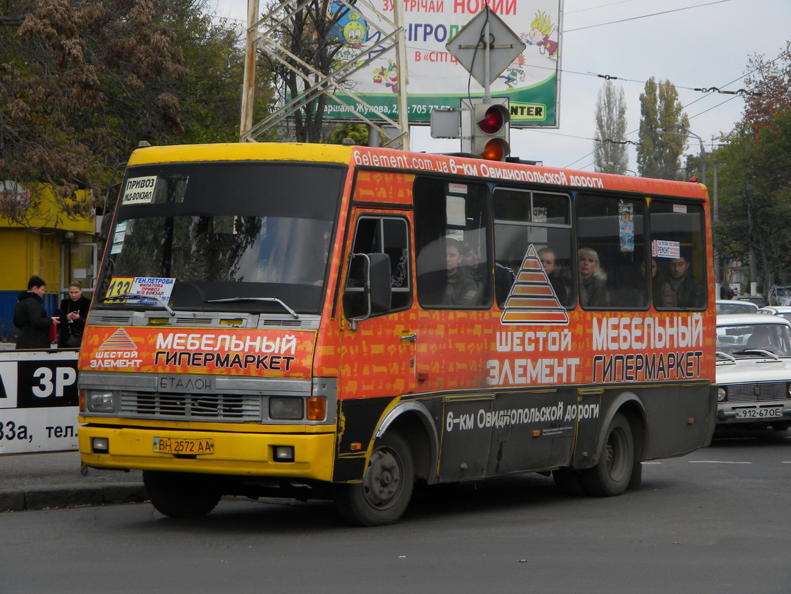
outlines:
M344 173L249 162L130 169L97 307L164 299L174 310L318 313ZM160 299L139 296L152 293Z

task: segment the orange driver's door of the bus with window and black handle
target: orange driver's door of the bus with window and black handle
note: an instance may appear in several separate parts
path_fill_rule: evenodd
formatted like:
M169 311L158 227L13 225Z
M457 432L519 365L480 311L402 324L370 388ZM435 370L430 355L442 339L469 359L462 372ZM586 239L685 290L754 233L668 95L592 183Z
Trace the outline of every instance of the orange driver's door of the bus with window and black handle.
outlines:
M390 309L341 333L341 386L344 398L383 398L415 391L416 318L412 307L409 221L405 216L371 211L354 212L353 254L387 254L390 259ZM361 304L361 266L353 258L343 295L346 318L365 310ZM356 278L360 276L360 278ZM356 292L355 292L356 291ZM351 326L356 326L352 329ZM374 408L376 404L372 405ZM371 414L374 414L373 412ZM378 418L378 415L375 415Z

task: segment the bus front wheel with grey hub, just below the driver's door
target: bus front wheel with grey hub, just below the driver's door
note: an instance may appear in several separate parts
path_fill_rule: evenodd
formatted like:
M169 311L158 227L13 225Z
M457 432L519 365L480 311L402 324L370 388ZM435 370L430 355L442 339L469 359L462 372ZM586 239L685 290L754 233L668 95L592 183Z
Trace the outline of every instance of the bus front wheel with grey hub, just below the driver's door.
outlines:
M395 524L407 510L414 489L409 445L399 433L376 441L362 482L336 485L335 508L350 524Z

